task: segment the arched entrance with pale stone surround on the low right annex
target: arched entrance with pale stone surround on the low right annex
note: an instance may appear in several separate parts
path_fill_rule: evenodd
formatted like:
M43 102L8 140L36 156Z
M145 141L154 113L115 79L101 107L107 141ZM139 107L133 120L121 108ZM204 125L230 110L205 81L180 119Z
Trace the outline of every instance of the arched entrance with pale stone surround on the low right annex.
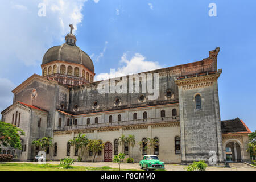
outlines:
M241 162L243 160L243 146L239 140L229 139L223 144L224 160Z

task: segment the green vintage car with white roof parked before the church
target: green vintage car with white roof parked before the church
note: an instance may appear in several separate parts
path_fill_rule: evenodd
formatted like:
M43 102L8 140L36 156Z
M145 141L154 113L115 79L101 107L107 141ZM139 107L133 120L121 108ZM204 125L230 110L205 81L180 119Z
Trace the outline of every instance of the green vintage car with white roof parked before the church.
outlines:
M164 162L158 159L157 155L144 155L142 160L139 162L141 169L164 169Z

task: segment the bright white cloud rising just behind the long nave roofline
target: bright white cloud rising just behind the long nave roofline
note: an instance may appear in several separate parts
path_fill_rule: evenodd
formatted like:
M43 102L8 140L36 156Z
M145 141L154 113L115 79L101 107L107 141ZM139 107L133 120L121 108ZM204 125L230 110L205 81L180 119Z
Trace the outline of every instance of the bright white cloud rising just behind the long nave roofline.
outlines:
M141 55L141 53L135 53L135 55L131 57L130 60L127 59L127 54L123 53L123 56L121 57L119 63L125 65L119 67L115 71L115 74L112 72L100 73L99 75L96 75L95 80L105 80L108 78L131 75L134 73L146 72L161 68L158 62L146 61L146 57Z

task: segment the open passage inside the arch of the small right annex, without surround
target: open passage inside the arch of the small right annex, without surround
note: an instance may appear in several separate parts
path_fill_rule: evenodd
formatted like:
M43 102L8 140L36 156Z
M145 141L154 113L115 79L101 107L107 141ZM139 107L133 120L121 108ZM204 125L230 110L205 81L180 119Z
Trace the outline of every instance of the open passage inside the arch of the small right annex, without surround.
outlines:
M240 144L235 141L226 143L225 157L227 162L241 162L242 154Z

